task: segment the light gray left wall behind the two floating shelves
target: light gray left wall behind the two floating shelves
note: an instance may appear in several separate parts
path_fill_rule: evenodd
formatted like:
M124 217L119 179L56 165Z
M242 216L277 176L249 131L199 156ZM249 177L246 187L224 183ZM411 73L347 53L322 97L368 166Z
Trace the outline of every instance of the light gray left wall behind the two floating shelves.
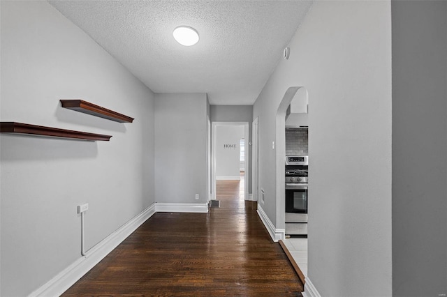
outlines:
M0 135L1 296L26 296L154 203L154 94L46 1L1 1L1 121L113 135ZM81 98L135 118L60 107Z

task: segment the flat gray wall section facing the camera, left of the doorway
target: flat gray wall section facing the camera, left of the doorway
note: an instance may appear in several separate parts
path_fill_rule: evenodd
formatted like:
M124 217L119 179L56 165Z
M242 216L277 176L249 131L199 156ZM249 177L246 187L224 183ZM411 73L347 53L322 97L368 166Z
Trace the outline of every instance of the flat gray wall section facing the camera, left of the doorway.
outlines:
M205 93L155 95L155 174L156 202L207 202Z

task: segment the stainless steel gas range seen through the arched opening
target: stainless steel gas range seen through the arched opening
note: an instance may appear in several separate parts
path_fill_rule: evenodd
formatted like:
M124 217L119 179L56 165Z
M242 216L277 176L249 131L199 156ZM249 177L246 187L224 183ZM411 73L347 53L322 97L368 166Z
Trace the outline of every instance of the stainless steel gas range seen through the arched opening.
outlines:
M286 156L286 235L307 236L309 156Z

